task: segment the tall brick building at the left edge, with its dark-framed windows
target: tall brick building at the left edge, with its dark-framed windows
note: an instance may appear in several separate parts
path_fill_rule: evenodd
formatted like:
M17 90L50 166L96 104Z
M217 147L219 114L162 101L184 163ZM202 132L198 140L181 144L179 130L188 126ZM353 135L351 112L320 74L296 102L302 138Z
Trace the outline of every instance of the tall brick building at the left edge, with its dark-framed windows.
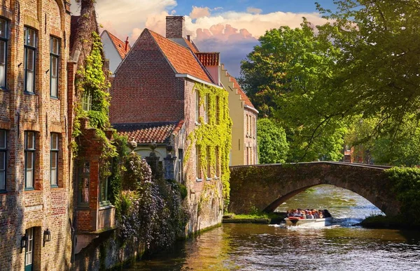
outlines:
M71 257L70 3L0 7L0 270L63 270Z

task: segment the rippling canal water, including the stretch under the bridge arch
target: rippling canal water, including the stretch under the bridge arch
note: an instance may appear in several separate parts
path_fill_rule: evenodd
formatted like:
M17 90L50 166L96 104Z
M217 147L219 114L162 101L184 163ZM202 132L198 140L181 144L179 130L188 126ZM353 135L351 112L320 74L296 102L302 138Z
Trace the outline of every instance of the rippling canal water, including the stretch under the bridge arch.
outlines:
M278 208L328 209L323 228L223 224L130 270L420 270L420 233L355 226L381 214L356 193L315 186Z

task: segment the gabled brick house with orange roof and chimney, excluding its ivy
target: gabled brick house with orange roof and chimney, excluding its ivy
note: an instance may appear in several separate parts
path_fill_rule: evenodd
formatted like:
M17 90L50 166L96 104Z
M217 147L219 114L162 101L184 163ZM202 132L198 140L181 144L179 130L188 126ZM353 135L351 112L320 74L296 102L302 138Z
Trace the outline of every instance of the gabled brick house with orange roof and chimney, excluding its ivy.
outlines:
M188 140L209 119L220 117L209 115L209 103L201 100L196 89L198 84L225 91L218 65L207 68L215 63L218 53L200 53L185 36L184 17L168 16L166 38L145 29L116 70L111 87L113 127L137 141L136 151L148 163L159 162L165 177L188 187L188 233L221 223L223 214L222 177L218 176L221 150L213 150L216 165L207 166L206 174L198 158L205 149ZM230 118L225 114L219 121L228 123ZM204 196L209 187L214 187L214 193Z

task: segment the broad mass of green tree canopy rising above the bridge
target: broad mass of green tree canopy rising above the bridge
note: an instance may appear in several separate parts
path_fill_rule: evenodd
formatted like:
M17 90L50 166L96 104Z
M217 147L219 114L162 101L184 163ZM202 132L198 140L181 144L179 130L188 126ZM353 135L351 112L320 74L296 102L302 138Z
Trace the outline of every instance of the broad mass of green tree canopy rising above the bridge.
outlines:
M339 159L346 135L375 161L417 163L403 145L420 136L420 0L334 3L321 26L267 31L239 81L286 129L290 161Z

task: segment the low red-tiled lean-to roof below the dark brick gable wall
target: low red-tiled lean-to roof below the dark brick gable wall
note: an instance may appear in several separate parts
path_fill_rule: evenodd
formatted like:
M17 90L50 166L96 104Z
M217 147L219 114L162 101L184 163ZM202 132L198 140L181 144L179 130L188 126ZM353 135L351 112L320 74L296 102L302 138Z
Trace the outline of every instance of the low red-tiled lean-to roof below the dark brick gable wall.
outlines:
M168 143L172 134L179 132L183 125L180 122L148 122L141 124L114 124L118 135L127 136L137 143Z

